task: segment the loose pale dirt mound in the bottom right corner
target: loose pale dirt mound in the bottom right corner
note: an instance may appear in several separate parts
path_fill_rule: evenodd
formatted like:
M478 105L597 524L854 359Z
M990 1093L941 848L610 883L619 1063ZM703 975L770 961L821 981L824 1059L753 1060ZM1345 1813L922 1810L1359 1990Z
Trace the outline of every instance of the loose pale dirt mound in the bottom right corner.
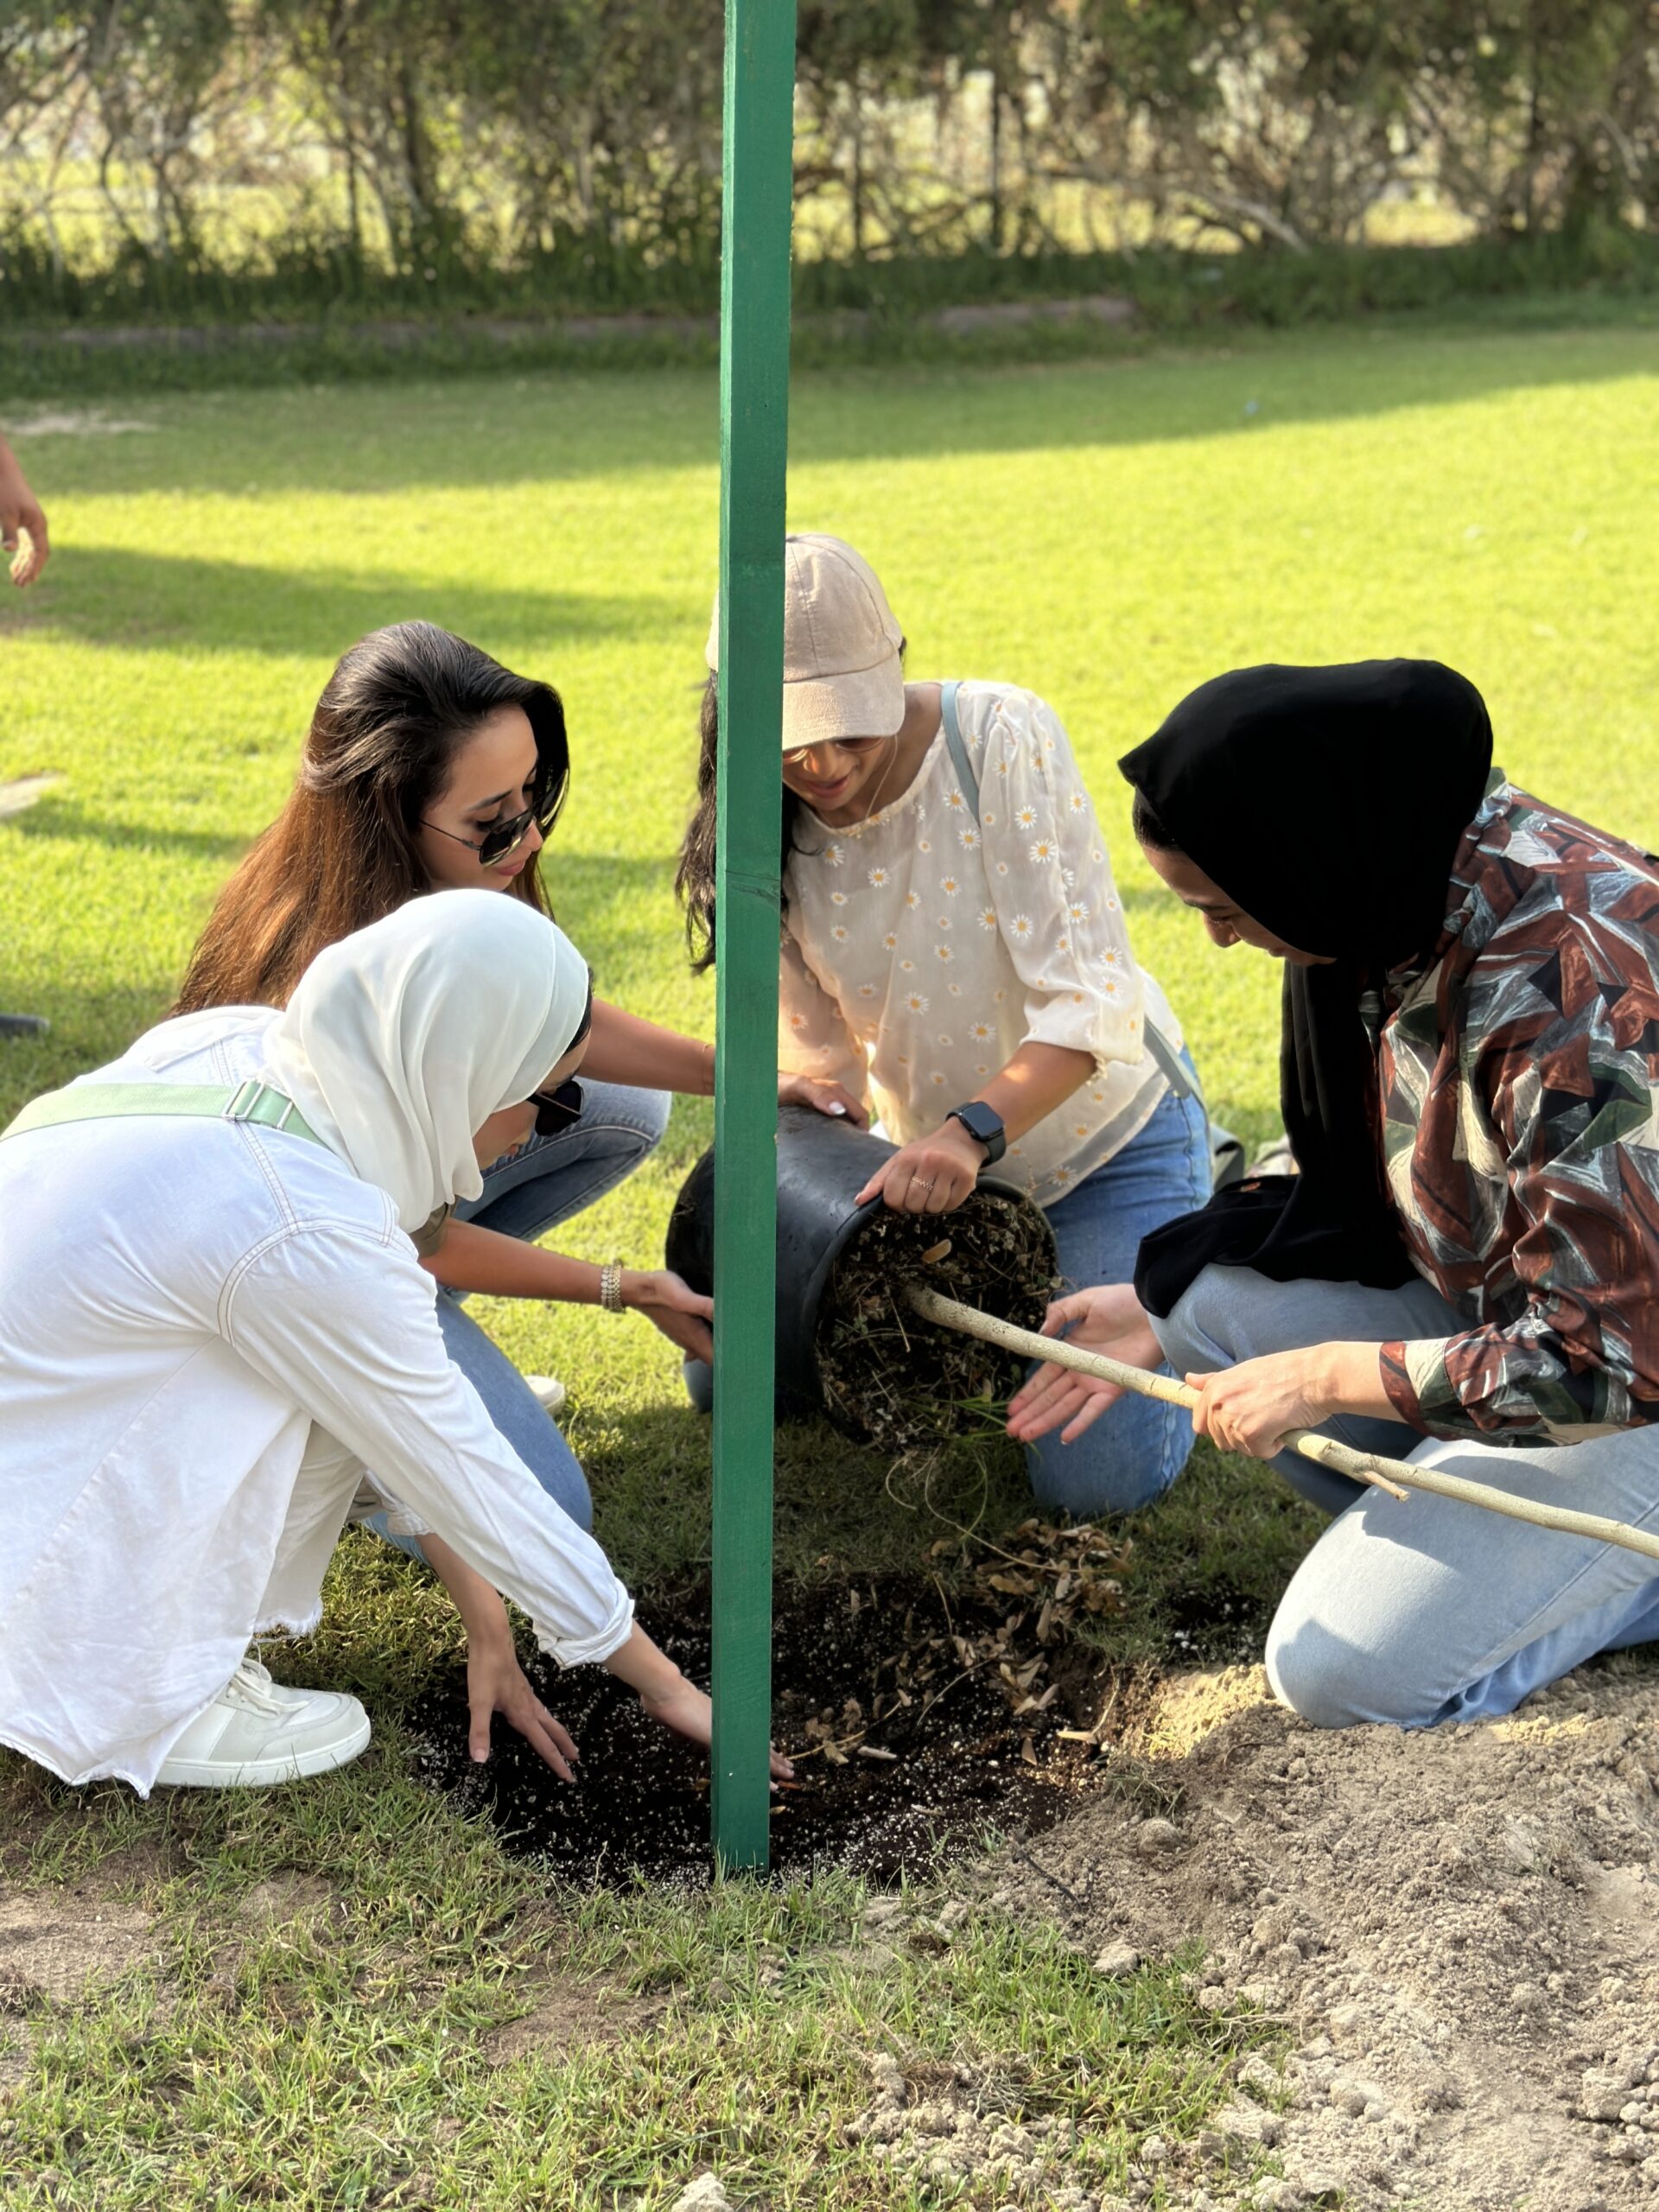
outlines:
M1060 1918L1102 1971L1197 1938L1206 2008L1254 2002L1298 2037L1190 2168L1146 2146L1133 2201L1659 2201L1652 1666L1411 1736L1307 1728L1259 1668L1188 1674L1113 1756L1130 1787L1044 1836L1046 1871L1009 1854L993 1902ZM1245 2143L1285 2179L1245 2188Z

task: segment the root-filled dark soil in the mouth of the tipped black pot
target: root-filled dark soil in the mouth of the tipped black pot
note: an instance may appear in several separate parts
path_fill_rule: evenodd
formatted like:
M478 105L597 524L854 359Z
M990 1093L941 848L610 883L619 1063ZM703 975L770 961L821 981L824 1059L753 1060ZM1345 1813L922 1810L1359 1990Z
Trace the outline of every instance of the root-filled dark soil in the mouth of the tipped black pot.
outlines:
M938 1444L973 1427L1024 1380L1024 1358L922 1321L905 1283L1042 1327L1055 1250L1035 1206L978 1190L953 1214L874 1212L830 1274L818 1314L818 1380L830 1418L883 1451Z

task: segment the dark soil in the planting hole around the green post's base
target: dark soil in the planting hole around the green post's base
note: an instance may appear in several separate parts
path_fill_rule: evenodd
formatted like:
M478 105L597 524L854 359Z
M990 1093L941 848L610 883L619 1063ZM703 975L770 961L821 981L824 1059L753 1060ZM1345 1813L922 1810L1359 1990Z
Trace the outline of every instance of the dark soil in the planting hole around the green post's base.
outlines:
M1040 1619L1048 1650L1033 1641ZM706 1606L650 1626L706 1683ZM845 1865L896 1882L987 1829L1042 1834L1097 1770L1093 1747L1060 1730L1093 1725L1110 1670L1053 1641L1035 1604L984 1577L949 1599L931 1577L779 1590L772 1666L776 1741L796 1761L794 1785L774 1794L776 1876ZM409 1717L420 1776L566 1880L708 1880L708 1756L599 1668L560 1674L538 1661L531 1679L582 1750L580 1783L562 1783L500 1719L489 1763L473 1765L460 1670Z

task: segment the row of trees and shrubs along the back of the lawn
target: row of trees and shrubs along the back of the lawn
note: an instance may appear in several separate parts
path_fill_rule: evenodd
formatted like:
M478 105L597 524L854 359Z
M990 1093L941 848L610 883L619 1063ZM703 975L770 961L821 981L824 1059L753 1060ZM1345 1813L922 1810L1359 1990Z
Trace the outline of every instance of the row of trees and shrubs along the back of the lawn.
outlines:
M1659 0L801 0L799 55L803 259L1659 228ZM2 0L0 279L703 303L719 106L710 0Z

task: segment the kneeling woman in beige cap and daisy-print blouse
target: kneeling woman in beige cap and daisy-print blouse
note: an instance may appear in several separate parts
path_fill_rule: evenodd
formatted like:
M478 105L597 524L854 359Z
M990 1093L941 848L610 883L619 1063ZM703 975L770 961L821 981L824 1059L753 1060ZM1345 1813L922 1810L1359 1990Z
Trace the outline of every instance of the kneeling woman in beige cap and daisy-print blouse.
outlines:
M907 684L902 653L849 544L785 542L781 1060L898 1144L860 1199L942 1214L995 1166L1046 1210L1068 1290L1126 1283L1141 1237L1210 1194L1192 1062L1130 951L1060 717L1018 684ZM710 679L679 863L699 969L717 743ZM1183 1411L1137 1398L1026 1462L1044 1504L1126 1511L1190 1447Z

